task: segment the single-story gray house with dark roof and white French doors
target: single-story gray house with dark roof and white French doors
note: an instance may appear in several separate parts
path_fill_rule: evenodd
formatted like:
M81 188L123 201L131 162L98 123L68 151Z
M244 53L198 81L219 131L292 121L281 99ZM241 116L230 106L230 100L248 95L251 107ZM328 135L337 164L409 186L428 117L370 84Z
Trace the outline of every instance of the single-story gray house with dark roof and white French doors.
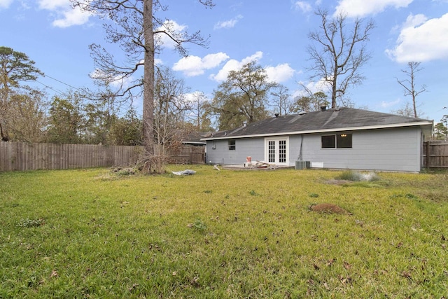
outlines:
M322 107L276 115L202 140L211 164L244 165L251 157L252 162L289 167L307 161L307 166L330 169L419 172L423 140L432 132L433 120Z

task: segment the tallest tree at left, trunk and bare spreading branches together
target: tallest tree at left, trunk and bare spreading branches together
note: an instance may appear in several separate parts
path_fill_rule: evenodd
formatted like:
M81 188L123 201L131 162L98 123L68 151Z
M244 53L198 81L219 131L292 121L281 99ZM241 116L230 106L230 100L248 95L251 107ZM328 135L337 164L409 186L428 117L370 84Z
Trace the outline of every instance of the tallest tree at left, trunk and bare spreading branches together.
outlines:
M167 11L162 0L70 0L73 6L94 13L104 20L106 41L120 46L126 55L118 62L98 44L92 44L92 57L99 71L95 78L122 82L114 96L128 99L143 97L143 139L146 155L154 155L154 55L161 49L162 35L174 42L176 50L186 55L185 43L207 46L200 32L176 32L169 20L156 15ZM199 0L205 7L214 6L212 0ZM141 69L143 68L143 76ZM135 77L137 76L137 78ZM124 82L131 81L129 84ZM137 90L137 91L136 91ZM151 160L149 160L151 161ZM151 171L151 162L146 165Z

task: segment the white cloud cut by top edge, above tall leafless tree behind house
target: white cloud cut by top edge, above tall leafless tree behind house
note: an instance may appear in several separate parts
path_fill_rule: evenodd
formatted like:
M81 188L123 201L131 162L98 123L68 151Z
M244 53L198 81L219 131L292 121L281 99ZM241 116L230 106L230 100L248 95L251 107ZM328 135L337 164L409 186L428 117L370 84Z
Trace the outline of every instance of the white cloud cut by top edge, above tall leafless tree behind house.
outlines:
M407 7L413 0L339 0L335 14L346 13L349 17L364 17L383 12L388 7Z

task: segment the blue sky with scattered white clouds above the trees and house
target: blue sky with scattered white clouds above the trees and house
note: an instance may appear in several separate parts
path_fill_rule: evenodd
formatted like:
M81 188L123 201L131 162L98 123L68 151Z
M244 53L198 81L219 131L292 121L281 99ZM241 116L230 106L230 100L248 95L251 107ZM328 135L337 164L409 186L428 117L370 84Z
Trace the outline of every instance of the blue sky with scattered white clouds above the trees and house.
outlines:
M314 12L321 7L330 15L346 14L349 25L355 18L375 23L367 43L371 59L360 69L365 81L348 94L356 107L386 113L402 109L412 99L397 80L408 78L402 72L408 69L407 62L421 62L416 73L416 90L426 86L417 97L421 118L438 123L448 114L448 0L214 0L211 9L198 0L162 3L168 9L160 17L179 30L200 30L209 36L207 48L188 45L187 57L170 43L155 57L159 65L183 78L190 93L204 92L212 99L228 71L251 61L292 95L300 94L299 83L317 91L318 82L309 81L307 46L308 34L320 23ZM69 4L69 0L0 0L0 46L34 60L45 73L38 84L49 95L92 86L89 74L95 66L90 44L116 51L104 39L102 20Z

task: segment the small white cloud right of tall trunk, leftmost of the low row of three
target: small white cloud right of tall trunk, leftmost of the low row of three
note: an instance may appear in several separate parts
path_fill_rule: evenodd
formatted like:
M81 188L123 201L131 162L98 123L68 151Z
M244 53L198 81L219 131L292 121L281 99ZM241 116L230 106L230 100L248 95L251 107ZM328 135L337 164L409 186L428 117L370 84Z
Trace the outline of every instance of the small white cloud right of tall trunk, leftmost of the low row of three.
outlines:
M206 55L204 58L197 56L182 57L179 62L174 64L174 71L183 71L183 74L189 77L199 76L204 74L206 69L213 69L218 67L221 62L228 60L229 57L225 53L214 53Z

